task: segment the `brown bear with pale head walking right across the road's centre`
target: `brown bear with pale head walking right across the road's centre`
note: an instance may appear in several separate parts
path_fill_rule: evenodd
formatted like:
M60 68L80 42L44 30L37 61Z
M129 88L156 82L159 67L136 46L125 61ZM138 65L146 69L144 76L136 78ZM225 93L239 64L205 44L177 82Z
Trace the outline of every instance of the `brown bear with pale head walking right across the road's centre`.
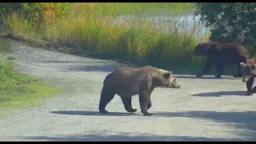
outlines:
M150 95L156 87L180 88L170 71L143 66L141 68L122 67L108 74L103 82L99 111L108 113L106 105L118 94L127 112L137 111L131 105L132 96L138 94L141 112L151 116L147 110L152 106Z

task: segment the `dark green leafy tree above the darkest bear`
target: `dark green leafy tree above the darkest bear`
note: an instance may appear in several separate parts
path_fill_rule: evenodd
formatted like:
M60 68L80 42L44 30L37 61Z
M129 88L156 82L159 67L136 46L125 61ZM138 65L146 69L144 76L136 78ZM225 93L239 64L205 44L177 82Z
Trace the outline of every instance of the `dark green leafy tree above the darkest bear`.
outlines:
M210 41L256 46L256 3L198 2L194 16L210 27Z

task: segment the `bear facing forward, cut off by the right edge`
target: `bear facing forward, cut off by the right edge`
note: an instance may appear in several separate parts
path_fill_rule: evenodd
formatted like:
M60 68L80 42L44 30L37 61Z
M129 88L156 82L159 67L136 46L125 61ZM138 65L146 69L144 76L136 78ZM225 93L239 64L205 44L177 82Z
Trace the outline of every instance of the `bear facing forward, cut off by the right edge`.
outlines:
M251 95L256 92L254 85L254 77L256 76L256 55L252 56L246 62L241 62L242 82L246 82L246 95Z

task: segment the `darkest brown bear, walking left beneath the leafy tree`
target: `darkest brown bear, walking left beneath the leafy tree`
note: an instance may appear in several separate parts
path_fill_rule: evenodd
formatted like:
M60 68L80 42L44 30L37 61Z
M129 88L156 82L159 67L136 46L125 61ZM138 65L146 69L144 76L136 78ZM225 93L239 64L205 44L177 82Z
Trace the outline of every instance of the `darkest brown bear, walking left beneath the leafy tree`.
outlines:
M240 62L246 62L250 57L249 51L239 43L204 42L195 47L193 54L207 57L202 72L197 74L197 77L206 74L214 64L217 70L215 78L222 76L225 64L238 66L238 74L234 75L234 78L241 78Z

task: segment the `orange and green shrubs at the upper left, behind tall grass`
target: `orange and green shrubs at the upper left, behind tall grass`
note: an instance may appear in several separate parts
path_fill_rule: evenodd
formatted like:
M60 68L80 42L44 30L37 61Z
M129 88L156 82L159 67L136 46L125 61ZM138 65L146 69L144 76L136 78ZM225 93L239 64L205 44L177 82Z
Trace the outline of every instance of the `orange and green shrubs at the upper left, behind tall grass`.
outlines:
M42 23L53 22L58 18L64 18L70 12L70 3L49 2L14 2L0 3L1 19L9 17L11 13L22 11L22 15L32 21L33 27L39 30ZM41 25L41 26L40 26Z

